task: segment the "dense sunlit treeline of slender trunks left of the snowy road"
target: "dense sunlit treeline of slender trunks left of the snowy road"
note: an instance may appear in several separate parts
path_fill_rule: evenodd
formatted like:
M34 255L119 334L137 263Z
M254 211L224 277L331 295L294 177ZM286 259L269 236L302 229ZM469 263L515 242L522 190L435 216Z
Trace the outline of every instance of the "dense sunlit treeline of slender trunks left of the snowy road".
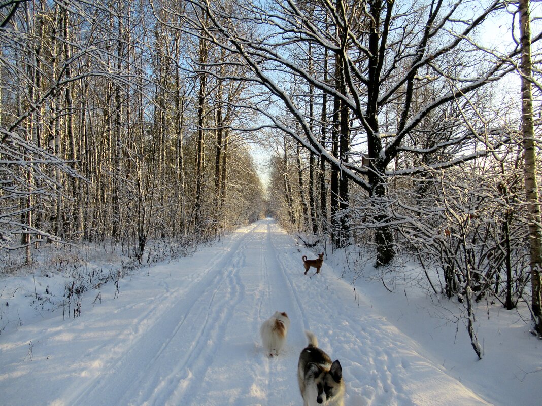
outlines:
M3 4L0 247L92 241L141 257L257 218L262 185L231 126L246 84L150 2Z

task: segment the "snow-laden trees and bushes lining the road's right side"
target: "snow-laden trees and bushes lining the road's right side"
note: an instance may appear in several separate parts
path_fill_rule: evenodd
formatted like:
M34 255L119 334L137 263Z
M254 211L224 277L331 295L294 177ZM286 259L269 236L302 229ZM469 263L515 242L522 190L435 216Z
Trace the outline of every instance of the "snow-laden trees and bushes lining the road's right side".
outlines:
M417 260L429 289L465 303L475 347L482 298L528 301L542 333L542 35L528 1L189 3L192 29L206 21L203 37L267 92L250 106L283 225L357 244L376 266Z

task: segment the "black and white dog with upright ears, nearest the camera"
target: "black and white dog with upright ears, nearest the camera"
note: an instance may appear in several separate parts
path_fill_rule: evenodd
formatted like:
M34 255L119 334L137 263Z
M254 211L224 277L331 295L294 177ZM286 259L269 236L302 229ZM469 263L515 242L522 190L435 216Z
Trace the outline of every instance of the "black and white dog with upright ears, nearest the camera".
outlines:
M318 340L305 331L307 347L301 351L298 363L299 390L304 406L344 406L343 370L339 360L318 348Z

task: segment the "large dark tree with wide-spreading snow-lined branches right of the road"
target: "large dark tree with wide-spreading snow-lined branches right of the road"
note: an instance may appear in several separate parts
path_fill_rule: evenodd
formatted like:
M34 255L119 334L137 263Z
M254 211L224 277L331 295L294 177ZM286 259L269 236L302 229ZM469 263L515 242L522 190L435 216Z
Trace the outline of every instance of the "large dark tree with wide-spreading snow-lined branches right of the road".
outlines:
M306 7L300 8L291 1L276 2L274 9L239 4L235 15L229 14L229 8L221 2L193 0L191 4L204 10L209 18L210 28L205 32L208 40L238 55L253 73L245 79L267 88L274 97L273 102L280 104L299 122L301 135L281 121L273 110L264 110L254 104L254 109L267 117L267 125L292 136L328 162L332 173L339 173L340 179L348 179L369 193L375 213L373 226L378 264L387 264L393 258L387 197L388 179L393 173L389 166L407 150L405 141L433 110L466 98L474 90L499 80L512 70L498 59L494 63L472 63L476 60L472 55L478 50L473 45L473 35L488 16L504 7L505 3L500 0L486 2L480 10L474 10L473 18L468 19L462 17L464 7L468 6L462 1L454 4L433 1L410 6L382 1L315 2L311 14L305 11ZM243 24L254 22L261 26L272 25L273 29L255 30L250 35L238 30ZM220 32L220 37L215 32ZM335 66L342 67L336 70L339 74L333 75L333 83L313 74L324 70L322 61L309 70L289 57L289 50L298 43L311 43L314 49L325 48L332 54L329 57L337 61ZM508 55L513 57L517 53L518 50L513 49ZM457 60L458 55L469 55L470 62L457 67L452 61ZM344 143L344 153L334 156L322 145L312 128L313 117L303 113L295 95L288 93L281 85L283 82L277 80L281 76L289 76L337 99L335 114L343 108L343 126L347 122L353 124L349 139ZM416 90L425 86L434 89L433 98L416 99L420 94ZM390 106L398 107L396 125L383 131L379 115ZM475 139L477 135L468 134L467 139ZM408 151L423 155L464 141L465 137L450 139L429 149L408 148ZM357 145L355 152L346 148L354 144ZM486 150L465 151L434 165L450 167L475 159L494 147L488 145ZM363 160L360 153L365 153L367 159ZM404 173L423 171L423 167L412 166ZM339 208L338 202L333 205Z

